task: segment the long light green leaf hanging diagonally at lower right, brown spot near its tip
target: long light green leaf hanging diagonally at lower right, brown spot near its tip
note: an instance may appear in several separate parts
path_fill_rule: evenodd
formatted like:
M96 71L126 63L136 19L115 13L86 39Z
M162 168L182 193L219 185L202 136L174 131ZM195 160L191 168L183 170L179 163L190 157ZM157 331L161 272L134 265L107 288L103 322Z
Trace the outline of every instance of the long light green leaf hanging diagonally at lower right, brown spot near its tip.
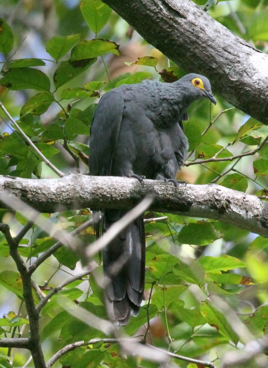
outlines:
M230 323L226 320L225 316L219 312L216 308L212 307L209 301L203 301L200 305L200 312L203 315L207 323L215 327L222 336L226 339L231 340L234 344L237 344L239 337L232 329Z

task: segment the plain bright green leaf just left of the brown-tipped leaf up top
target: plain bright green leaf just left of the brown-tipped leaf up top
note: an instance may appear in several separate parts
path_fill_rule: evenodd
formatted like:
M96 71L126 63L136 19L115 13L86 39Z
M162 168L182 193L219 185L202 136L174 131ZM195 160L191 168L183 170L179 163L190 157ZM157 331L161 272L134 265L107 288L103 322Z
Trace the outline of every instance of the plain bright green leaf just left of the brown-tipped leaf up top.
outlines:
M58 61L80 40L80 35L54 36L46 42L46 51Z

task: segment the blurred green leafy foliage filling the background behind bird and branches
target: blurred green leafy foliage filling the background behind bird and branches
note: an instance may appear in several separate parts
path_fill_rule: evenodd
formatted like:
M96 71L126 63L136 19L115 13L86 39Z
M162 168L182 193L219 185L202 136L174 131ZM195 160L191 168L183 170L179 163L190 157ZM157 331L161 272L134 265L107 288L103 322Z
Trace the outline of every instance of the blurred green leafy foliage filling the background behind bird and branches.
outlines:
M204 6L204 2L197 1ZM64 173L87 172L88 136L96 103L103 93L145 78L170 81L186 74L148 45L100 0L2 0L0 13L0 98L19 126L51 162ZM268 2L222 1L209 13L228 29L263 52L268 51ZM139 59L138 59L139 58ZM268 144L253 156L233 161L195 164L226 158L255 149L267 137L268 127L238 111L220 96L194 103L184 123L189 158L178 178L193 184L216 182L254 195L267 196ZM24 178L56 177L0 111L0 174ZM202 134L209 126L205 134ZM20 213L0 210L12 235L26 224ZM225 305L255 338L267 333L268 241L239 227L219 221L166 214L167 219L146 224L146 296L125 333L144 335L148 315L154 318L148 340L187 357L216 360L226 351L244 349L247 338L232 323ZM73 230L90 218L90 212L64 211L51 222ZM148 213L146 217L162 214ZM235 225L235 224L234 224ZM84 244L94 241L93 229L80 235ZM33 226L19 246L31 263L55 241ZM0 236L0 336L17 337L28 318L21 279ZM79 272L78 257L60 248L33 274L43 293ZM105 318L103 296L94 275L101 272L99 256L89 278L69 284L60 295L79 300L82 308ZM147 302L153 286L150 306ZM218 303L215 298L221 298ZM36 304L40 296L35 292ZM216 302L215 302L216 300ZM41 312L42 344L48 360L66 344L106 337L69 314L53 296ZM27 336L27 326L22 336ZM172 341L169 342L169 339ZM14 355L0 349L1 367L22 367L27 352ZM217 360L217 358L219 358ZM262 364L267 364L265 356ZM29 364L31 366L32 363ZM186 362L174 360L179 367ZM117 344L98 343L65 354L55 366L157 367L158 364L120 355ZM261 367L249 361L243 367ZM193 364L188 367L194 368Z

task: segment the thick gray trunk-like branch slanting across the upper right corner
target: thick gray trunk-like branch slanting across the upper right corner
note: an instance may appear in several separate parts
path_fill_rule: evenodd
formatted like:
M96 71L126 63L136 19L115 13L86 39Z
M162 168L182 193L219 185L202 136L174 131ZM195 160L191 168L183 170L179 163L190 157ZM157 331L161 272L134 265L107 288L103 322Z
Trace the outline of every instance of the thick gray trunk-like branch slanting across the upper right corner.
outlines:
M190 0L103 0L147 42L189 72L206 75L232 105L268 124L268 55Z

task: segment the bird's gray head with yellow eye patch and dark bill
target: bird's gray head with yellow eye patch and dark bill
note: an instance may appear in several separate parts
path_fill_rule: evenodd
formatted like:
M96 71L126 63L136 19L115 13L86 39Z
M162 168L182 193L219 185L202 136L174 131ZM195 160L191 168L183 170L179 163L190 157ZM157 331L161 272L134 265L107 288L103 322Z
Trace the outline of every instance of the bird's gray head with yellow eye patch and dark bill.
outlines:
M187 74L179 82L183 84L187 93L193 96L194 99L208 98L214 105L216 99L212 95L210 81L200 74Z

